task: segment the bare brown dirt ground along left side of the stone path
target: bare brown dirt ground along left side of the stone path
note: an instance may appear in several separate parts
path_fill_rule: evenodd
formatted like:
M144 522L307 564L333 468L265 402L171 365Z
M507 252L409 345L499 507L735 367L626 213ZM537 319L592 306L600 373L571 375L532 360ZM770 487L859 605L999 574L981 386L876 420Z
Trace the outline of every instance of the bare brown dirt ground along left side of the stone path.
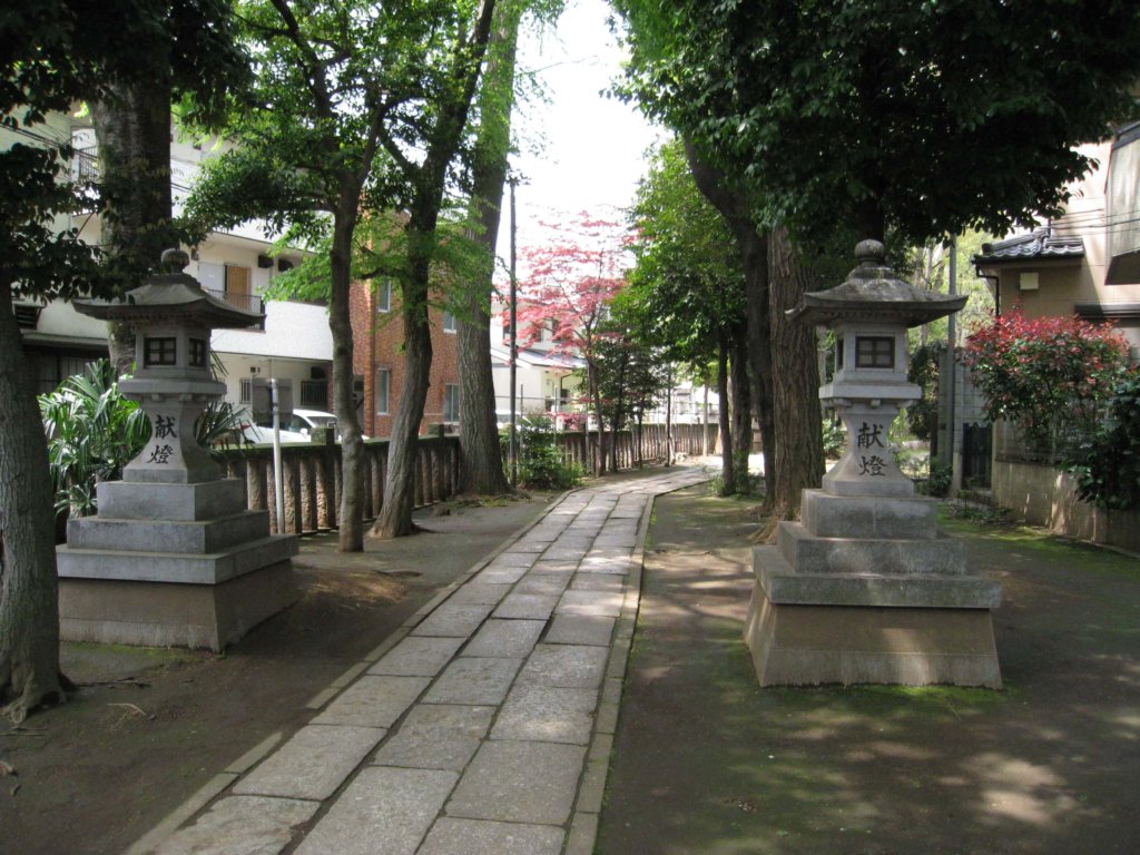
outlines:
M227 764L311 715L306 703L551 497L449 503L425 529L366 552L302 539L301 600L221 656L67 644L80 691L19 728L0 723L0 853L122 853Z

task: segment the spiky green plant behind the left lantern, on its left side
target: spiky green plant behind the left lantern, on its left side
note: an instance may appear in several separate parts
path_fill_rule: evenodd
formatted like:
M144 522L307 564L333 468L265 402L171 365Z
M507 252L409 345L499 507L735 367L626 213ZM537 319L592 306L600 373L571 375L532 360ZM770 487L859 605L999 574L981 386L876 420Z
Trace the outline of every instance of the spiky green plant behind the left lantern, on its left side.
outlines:
M89 363L83 374L40 396L40 415L56 512L72 516L95 513L95 486L121 478L150 438L150 422L138 404L123 398L106 359Z

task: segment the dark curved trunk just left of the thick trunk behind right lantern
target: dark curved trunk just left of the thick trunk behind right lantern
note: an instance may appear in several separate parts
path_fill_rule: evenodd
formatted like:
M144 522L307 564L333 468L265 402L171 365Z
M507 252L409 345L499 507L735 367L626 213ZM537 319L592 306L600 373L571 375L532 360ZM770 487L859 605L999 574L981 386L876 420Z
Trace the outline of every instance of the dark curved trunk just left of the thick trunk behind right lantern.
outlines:
M748 198L728 189L734 185L719 170L701 161L689 140L685 154L693 180L701 195L724 217L736 241L744 269L744 293L748 299L748 358L755 382L754 405L760 425L760 448L764 453L765 506L776 491L776 430L773 415L772 331L768 320L768 239L756 230ZM724 401L722 400L722 408Z

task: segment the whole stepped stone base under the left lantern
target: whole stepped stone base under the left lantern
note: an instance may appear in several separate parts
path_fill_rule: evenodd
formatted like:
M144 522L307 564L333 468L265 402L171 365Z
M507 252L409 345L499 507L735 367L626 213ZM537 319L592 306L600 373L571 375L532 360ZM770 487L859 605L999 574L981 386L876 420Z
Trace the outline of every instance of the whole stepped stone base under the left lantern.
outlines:
M245 483L106 481L56 547L67 641L222 650L298 598L298 539L270 535Z

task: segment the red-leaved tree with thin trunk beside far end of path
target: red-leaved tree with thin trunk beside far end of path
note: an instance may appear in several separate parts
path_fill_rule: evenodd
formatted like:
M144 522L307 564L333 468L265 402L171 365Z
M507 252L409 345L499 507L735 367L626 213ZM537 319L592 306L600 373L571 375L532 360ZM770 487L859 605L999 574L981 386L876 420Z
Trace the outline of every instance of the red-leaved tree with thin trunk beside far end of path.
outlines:
M597 372L598 342L606 335L609 303L626 284L628 237L618 222L586 212L561 223L542 223L547 239L521 251L524 277L519 280L519 341L530 347L543 331L551 334L551 352L581 357L586 390L602 434L602 401ZM596 474L605 456L591 442Z

